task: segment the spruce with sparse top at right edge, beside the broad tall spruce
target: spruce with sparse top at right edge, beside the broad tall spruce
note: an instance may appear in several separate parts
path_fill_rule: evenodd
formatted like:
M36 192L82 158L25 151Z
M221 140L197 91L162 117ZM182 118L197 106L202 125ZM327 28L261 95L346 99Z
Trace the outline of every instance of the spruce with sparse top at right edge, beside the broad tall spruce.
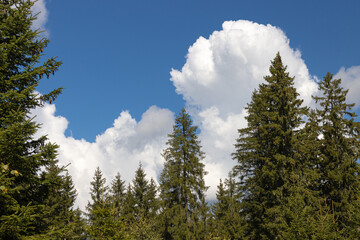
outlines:
M348 90L341 79L328 73L319 84L322 96L314 97L320 108L318 125L318 188L326 209L333 214L337 238L360 237L360 127L351 111L354 104L346 102ZM334 230L334 229L333 229Z

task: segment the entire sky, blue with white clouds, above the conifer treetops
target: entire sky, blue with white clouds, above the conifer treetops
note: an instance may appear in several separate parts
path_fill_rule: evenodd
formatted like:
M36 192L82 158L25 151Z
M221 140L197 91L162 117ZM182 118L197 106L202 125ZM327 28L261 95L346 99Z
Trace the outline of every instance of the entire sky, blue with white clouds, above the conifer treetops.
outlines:
M360 1L40 0L35 9L46 56L63 61L38 90L65 89L34 114L71 163L81 207L97 166L108 182L117 171L130 182L139 162L158 179L183 106L199 126L213 199L234 165L243 108L278 51L305 104L327 72L360 103Z

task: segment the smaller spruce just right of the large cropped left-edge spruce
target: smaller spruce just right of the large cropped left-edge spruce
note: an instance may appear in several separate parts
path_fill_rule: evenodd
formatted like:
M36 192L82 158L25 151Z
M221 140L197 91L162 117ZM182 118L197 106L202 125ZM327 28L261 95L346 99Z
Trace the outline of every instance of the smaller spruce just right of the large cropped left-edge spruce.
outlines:
M39 198L44 206L40 209L38 228L41 234L32 239L85 239L84 222L80 210L74 208L76 190L65 167L59 167L54 159L41 176Z

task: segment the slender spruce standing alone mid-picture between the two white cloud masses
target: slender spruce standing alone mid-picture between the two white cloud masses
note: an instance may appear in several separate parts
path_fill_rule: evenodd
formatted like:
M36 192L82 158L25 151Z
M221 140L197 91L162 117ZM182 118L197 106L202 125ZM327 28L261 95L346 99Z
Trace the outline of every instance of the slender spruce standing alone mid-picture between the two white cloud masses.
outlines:
M204 181L204 153L185 108L175 119L163 152L160 196L165 239L204 239L207 205Z

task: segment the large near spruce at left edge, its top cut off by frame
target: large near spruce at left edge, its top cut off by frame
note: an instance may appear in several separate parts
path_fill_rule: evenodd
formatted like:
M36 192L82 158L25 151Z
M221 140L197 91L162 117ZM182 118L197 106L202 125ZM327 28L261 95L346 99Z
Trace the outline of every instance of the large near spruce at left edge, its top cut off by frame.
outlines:
M46 137L34 138L39 125L30 112L61 93L61 88L44 95L36 92L40 80L54 74L61 62L44 57L49 40L32 29L33 4L30 0L0 1L0 161L10 170L1 175L0 185L6 190L0 196L2 239L47 233L49 225L43 224L41 210L54 194L41 192L46 184L41 176L52 164L57 146Z

